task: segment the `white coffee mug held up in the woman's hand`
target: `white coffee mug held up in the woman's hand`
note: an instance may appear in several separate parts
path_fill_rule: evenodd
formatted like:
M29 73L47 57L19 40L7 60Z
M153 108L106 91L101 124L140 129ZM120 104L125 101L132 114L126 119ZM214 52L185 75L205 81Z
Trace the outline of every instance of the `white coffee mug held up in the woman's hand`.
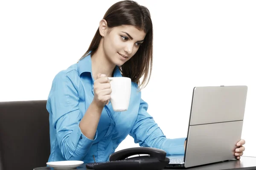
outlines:
M131 79L128 77L108 77L111 84L111 105L114 111L127 111L131 96Z

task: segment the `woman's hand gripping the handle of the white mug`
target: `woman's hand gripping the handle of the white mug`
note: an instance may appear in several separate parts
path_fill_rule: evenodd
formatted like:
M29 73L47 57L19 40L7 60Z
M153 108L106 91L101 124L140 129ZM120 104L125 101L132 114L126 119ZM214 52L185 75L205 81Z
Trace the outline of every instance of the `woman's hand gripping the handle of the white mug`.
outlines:
M93 102L100 108L103 108L110 100L111 85L110 80L105 74L98 74L94 81Z

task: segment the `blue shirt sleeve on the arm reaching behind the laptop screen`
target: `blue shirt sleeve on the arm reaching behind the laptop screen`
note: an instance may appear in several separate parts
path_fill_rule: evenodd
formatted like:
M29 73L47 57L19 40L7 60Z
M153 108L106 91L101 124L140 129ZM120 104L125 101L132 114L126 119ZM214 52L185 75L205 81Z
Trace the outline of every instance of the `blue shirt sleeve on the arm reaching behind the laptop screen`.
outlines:
M141 99L137 120L129 134L134 142L142 147L165 150L167 155L183 155L186 138L167 139L147 109L148 104Z

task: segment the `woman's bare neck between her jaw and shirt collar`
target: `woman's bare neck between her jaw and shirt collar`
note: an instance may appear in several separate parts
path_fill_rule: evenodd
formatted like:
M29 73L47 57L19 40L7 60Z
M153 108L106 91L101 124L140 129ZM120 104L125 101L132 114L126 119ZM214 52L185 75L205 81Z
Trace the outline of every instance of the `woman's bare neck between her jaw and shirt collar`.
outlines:
M106 57L102 45L100 43L97 51L91 56L92 60L92 74L93 79L95 80L97 75L105 74L107 77L112 77L113 70L115 68L115 65L111 63L108 58Z

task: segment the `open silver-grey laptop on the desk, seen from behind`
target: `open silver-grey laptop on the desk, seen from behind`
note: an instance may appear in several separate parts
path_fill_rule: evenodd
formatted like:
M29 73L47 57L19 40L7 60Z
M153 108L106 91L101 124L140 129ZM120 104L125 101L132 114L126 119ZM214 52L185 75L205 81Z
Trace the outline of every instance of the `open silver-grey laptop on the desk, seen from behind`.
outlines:
M166 156L165 168L188 168L235 159L247 86L195 87L184 155Z

